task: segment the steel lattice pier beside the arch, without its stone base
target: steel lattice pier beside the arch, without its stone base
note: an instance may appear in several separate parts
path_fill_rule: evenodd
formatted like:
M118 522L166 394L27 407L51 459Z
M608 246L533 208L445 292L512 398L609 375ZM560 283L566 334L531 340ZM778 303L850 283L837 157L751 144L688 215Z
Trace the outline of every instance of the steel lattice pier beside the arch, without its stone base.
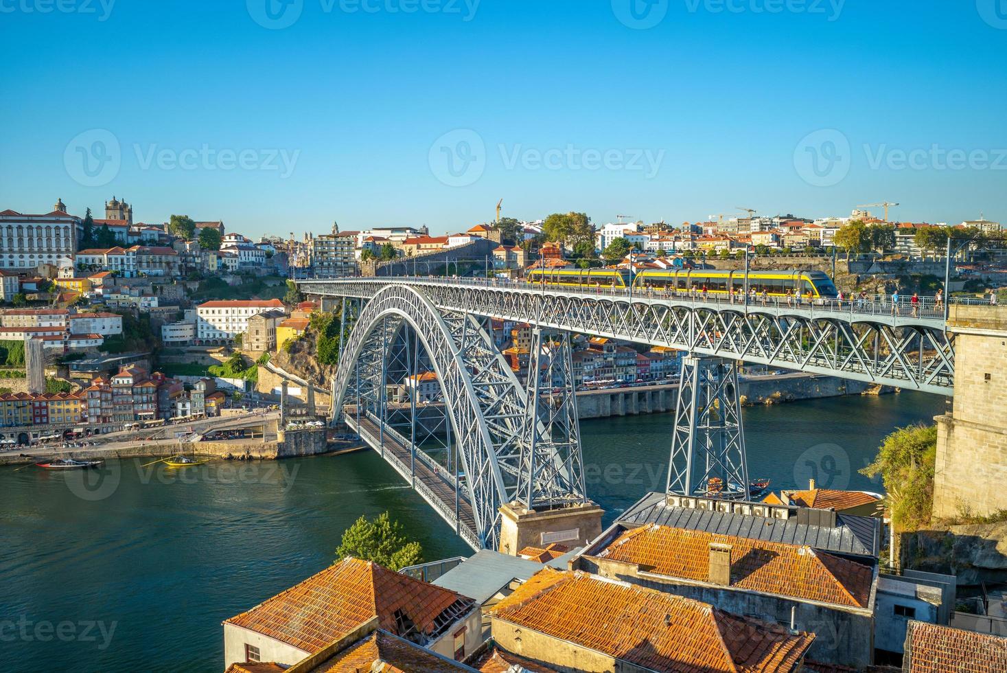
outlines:
M530 510L587 500L575 392L570 334L536 327L517 492Z

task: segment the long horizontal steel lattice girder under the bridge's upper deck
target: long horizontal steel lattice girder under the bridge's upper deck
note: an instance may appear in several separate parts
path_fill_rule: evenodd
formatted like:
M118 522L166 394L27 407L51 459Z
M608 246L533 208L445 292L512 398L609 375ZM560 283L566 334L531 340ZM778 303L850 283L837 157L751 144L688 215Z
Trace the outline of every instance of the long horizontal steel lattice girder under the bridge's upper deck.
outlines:
M371 297L413 287L440 310L670 346L696 355L952 395L954 341L944 320L808 306L707 303L678 297L468 285L410 278L301 281L310 294ZM541 317L540 317L541 316Z

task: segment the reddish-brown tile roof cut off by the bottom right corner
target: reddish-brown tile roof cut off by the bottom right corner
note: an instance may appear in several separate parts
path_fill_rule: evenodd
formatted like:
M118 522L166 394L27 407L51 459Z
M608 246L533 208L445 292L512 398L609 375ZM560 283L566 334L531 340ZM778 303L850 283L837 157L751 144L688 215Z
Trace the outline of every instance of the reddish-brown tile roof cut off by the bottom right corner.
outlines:
M1007 671L1007 638L909 622L905 630L906 673L1003 673Z

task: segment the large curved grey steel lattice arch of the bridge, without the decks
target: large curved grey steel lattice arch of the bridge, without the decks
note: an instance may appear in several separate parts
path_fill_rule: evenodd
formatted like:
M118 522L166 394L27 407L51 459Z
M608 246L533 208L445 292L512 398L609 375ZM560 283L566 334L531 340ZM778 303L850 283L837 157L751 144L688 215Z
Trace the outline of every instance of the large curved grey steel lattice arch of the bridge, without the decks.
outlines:
M514 372L475 317L438 310L427 297L408 286L392 284L382 288L359 312L342 349L332 409L337 414L344 404L353 403L345 396L353 388L359 364L365 363L369 370L380 367L376 351L397 332L397 322L403 320L419 338L441 386L465 476L462 491L471 506L476 529L472 532L479 547L495 548L499 507L513 501L517 490L518 442L526 397ZM383 371L377 374L383 376ZM374 371L363 372L361 379L370 382L373 389L375 375ZM387 431L383 425L382 432ZM454 479L453 475L448 477ZM421 495L426 497L422 490ZM430 504L449 523L457 525L452 513L437 503ZM466 541L473 543L467 537Z

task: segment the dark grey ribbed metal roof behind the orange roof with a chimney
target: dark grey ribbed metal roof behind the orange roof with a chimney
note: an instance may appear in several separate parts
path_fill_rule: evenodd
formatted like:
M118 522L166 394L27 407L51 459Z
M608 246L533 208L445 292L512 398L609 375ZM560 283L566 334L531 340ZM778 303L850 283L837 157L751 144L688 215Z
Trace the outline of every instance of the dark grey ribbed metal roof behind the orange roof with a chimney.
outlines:
M835 528L809 526L799 524L796 518L767 519L746 514L674 507L666 504L663 493L643 496L619 515L615 522L627 526L658 524L687 528L768 542L808 545L813 549L857 556L877 557L881 550L881 521L872 517L837 514Z

